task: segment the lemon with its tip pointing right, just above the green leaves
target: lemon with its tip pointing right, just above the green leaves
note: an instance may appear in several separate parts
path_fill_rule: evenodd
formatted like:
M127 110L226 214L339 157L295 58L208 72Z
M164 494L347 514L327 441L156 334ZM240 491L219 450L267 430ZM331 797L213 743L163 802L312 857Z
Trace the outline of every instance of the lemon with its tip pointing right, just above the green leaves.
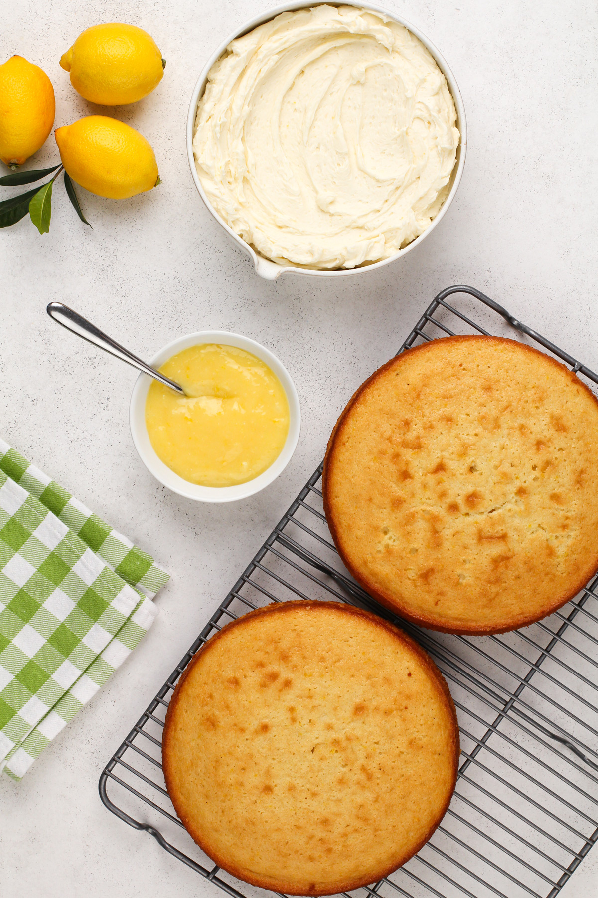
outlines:
M88 115L54 135L65 171L91 193L122 199L160 183L152 147L122 121Z

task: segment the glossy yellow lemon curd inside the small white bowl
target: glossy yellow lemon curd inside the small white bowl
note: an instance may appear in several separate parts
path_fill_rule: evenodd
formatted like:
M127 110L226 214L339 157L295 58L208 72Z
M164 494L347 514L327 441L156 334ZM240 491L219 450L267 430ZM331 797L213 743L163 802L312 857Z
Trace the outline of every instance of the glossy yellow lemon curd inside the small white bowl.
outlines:
M204 343L169 358L160 371L187 395L153 381L145 425L156 454L179 477L232 487L253 480L280 455L289 402L261 359L245 349Z

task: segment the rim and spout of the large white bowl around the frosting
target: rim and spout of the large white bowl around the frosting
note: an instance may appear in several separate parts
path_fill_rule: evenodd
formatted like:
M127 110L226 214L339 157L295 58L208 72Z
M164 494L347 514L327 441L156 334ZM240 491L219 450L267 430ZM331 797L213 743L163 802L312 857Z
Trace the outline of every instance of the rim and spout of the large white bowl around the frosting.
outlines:
M325 2L325 0L323 0L323 2ZM219 214L212 206L212 203L205 195L202 182L199 179L199 175L197 174L197 169L195 167L195 157L193 154L193 131L195 128L195 113L197 111L198 102L204 96L205 84L208 80L208 73L216 60L220 59L221 55L229 46L231 40L242 37L244 34L247 34L248 31L253 31L254 28L257 28L258 25L262 25L264 24L264 22L269 22L280 13L288 13L296 9L305 9L309 8L310 6L316 5L317 3L306 3L305 0L292 0L291 3L284 4L283 6L277 6L276 9L270 10L267 13L262 13L262 15L256 15L255 19L247 22L245 25L243 25L242 28L234 31L226 40L222 41L220 47L214 50L212 56L206 62L204 68L202 69L202 74L197 79L197 84L195 84L195 89L191 96L191 102L189 103L189 114L186 119L186 153L189 158L189 165L191 166L191 174L193 176L193 180L195 181L195 187L199 191L199 195L204 200L205 205L212 213L212 216L214 216L216 221L224 228L227 233L230 234L232 239L236 243L238 243L241 249L247 252L247 255L251 258L251 260L253 260L257 274L261 277L264 277L266 280L274 280L276 277L279 277L282 272L287 271L291 271L294 274L298 275L309 275L310 277L347 277L348 275L359 275L364 274L368 271L373 271L374 269L380 269L383 265L388 265L389 262L394 262L395 259L400 259L405 255L405 253L418 246L422 240L425 240L429 233L431 233L436 225L438 225L440 219L445 215L446 209L451 205L453 199L455 198L455 193L459 186L459 182L464 170L465 152L467 149L467 124L465 122L463 97L461 96L461 91L459 90L459 87L455 81L455 75L453 75L450 68L446 64L446 59L438 52L438 49L434 46L434 44L431 43L431 41L429 41L428 38L421 33L421 31L418 31L417 28L414 28L413 25L411 25L409 22L406 22L400 15L391 13L389 10L383 9L381 6L375 6L374 4L369 3L332 2L329 5L356 6L358 9L369 9L374 13L382 13L388 19L391 19L394 22L398 22L400 25L403 25L403 27L408 29L408 31L411 31L412 34L416 36L416 38L420 39L424 47L429 50L429 53L436 60L440 71L446 77L446 84L448 84L448 89L452 93L453 100L455 101L455 109L457 114L456 127L459 128L461 140L459 141L459 145L457 147L456 163L453 169L453 173L451 174L451 188L440 211L438 212L438 216L436 216L431 225L429 225L429 227L426 228L426 230L421 233L416 240L414 240L408 246L405 246L403 250L399 250L398 252L394 253L394 256L391 256L389 259L383 259L379 262L373 262L372 264L364 265L361 268L335 269L334 271L328 271L324 269L301 269L298 266L294 265L277 265L276 262L273 262L270 259L265 259L264 256L261 256L258 252L256 252L251 246L249 246L248 243L246 243L241 237L238 236L238 233L235 233L229 227L229 225L226 224L224 219L219 216Z

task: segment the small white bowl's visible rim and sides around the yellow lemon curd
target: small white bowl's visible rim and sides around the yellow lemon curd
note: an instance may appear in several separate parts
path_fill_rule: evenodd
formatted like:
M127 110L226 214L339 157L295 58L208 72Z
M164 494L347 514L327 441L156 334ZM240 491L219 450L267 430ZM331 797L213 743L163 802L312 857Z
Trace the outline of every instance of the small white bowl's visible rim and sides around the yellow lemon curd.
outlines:
M164 365L169 358L176 356L183 349L198 346L201 343L220 343L222 346L236 346L239 349L245 349L246 352L251 352L254 356L261 358L276 374L282 383L284 392L287 394L290 415L289 433L278 458L258 477L253 480L247 480L247 483L239 483L234 487L200 487L195 483L189 483L188 480L183 480L182 477L171 471L168 465L161 461L150 442L150 436L145 426L145 400L152 383L152 377L149 377L148 374L140 374L134 383L129 405L131 436L133 436L135 449L147 470L153 474L156 480L160 480L160 483L172 489L173 492L178 493L179 496L196 499L198 502L235 502L238 499L246 499L249 496L253 496L261 489L264 489L264 487L269 486L290 462L290 457L295 452L295 447L299 440L299 430L301 429L299 396L297 395L295 384L290 379L289 372L273 356L269 349L260 346L255 340L241 337L240 334L231 334L226 330L200 330L198 333L187 334L186 337L173 339L168 346L160 349L160 352L150 360L150 365L154 368L159 368L160 365Z

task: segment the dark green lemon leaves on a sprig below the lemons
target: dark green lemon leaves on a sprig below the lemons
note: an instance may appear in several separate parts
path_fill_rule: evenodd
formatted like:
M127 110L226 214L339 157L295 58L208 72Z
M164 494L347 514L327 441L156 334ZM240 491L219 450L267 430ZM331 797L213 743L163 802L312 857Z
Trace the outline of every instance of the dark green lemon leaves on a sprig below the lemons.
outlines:
M56 169L58 170L57 172ZM13 174L7 174L4 175L4 178L0 178L0 184L4 187L14 187L19 184L32 184L34 181L41 180L52 172L56 172L56 174L45 184L42 184L41 187L34 187L16 197L4 199L0 202L0 228L15 225L29 213L30 219L37 227L39 233L48 233L52 215L52 188L60 172L65 172L64 166L61 164L53 165L47 169L36 169L31 172L13 172ZM79 200L74 192L73 181L67 172L65 172L65 189L77 215L85 225L91 227L85 216L83 216Z

